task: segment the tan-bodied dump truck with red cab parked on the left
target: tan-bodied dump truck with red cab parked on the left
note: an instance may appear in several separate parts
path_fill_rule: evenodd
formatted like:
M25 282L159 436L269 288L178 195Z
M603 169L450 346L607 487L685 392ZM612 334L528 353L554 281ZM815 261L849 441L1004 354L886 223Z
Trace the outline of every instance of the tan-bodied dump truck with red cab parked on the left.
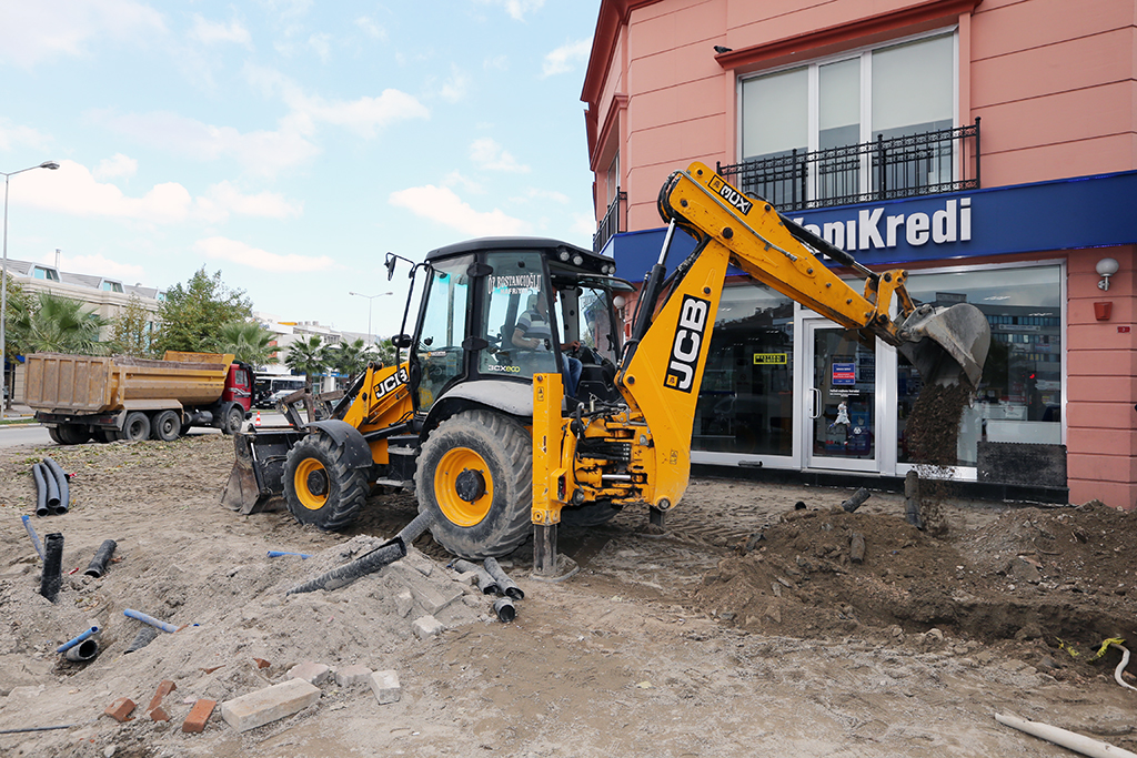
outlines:
M232 355L169 350L148 360L38 352L25 366L24 402L59 444L168 442L192 426L233 434L252 402L252 369Z

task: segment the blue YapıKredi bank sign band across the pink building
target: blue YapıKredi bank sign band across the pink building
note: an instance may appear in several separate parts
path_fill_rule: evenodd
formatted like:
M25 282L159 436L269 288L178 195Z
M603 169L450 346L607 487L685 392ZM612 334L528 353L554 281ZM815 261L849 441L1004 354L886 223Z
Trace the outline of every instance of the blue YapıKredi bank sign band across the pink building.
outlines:
M790 214L863 264L973 258L1137 243L1137 172ZM606 252L639 278L658 258L663 230L619 234ZM677 236L677 264L694 241ZM740 273L740 272L731 272Z

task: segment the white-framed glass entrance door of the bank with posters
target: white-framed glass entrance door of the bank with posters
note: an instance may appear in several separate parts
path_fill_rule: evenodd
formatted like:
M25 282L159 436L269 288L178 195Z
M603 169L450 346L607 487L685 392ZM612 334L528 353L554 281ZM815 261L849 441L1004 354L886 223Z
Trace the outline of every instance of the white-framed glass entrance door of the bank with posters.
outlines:
M805 326L806 466L880 470L875 344L828 322Z

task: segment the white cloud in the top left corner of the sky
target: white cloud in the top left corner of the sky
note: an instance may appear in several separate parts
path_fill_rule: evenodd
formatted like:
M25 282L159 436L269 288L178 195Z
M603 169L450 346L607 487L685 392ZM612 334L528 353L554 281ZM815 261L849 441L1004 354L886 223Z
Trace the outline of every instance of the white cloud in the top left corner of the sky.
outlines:
M165 32L161 14L134 0L0 2L0 59L27 68L84 55L89 42L144 45Z

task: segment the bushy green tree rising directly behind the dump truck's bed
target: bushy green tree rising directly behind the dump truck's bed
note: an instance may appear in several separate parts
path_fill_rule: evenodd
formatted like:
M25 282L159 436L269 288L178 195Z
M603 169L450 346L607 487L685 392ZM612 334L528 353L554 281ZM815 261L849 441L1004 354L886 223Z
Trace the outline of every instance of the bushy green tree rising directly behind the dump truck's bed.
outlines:
M210 276L202 266L184 286L177 283L166 291L166 300L158 308L161 327L155 350L219 352L224 347L222 326L251 315L252 302L244 291L230 289L221 281L219 270Z

